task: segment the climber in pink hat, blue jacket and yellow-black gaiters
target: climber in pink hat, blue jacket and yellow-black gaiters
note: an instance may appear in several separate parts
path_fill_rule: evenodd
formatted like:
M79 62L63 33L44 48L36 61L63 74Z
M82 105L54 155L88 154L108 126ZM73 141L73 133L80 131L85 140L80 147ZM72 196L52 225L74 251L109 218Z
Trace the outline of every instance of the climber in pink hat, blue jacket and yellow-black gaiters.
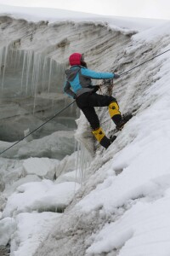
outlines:
M65 71L67 80L64 91L76 100L77 107L82 110L91 125L94 137L104 148L108 148L116 137L109 139L105 136L94 107L108 106L111 119L117 130L122 130L127 120L122 119L116 98L97 94L99 85L93 85L91 79L118 79L120 76L116 73L97 73L88 69L87 63L80 53L70 55L69 62L71 68Z

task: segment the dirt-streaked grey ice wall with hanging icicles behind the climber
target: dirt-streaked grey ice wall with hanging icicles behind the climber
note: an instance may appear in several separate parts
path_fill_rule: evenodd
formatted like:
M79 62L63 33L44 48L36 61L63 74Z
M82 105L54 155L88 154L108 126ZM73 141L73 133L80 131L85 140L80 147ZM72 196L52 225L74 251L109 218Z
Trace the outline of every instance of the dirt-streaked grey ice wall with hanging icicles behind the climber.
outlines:
M28 128L34 130L71 102L62 87L72 52L84 53L90 68L111 71L117 52L130 41L132 34L133 31L127 30L112 31L102 22L48 24L1 16L0 140L19 140ZM33 138L75 129L78 115L75 106L68 108L34 133Z

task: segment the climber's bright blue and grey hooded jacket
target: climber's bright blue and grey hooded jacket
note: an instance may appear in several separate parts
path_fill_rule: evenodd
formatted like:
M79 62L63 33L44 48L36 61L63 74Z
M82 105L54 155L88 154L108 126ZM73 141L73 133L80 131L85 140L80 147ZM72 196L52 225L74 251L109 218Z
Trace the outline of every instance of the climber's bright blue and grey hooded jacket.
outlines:
M66 79L64 91L67 95L80 96L93 91L92 79L113 79L114 73L97 73L82 66L72 66L65 71Z

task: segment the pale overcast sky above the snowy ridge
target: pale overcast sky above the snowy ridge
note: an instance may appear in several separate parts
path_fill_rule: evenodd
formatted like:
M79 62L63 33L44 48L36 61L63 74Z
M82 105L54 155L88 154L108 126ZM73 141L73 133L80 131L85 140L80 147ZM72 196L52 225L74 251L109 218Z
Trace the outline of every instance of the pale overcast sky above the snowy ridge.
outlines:
M0 4L170 20L170 0L0 0Z

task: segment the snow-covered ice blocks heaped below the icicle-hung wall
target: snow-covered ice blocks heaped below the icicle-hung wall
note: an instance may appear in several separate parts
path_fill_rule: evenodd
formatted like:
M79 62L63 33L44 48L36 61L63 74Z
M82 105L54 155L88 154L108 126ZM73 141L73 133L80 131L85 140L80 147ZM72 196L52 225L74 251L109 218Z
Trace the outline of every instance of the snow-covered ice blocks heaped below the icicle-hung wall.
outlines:
M75 157L76 154L72 154L69 163L75 161ZM71 172L68 167L65 170L68 162L65 160L2 158L0 162L5 183L0 197L1 210L4 208L0 212L0 246L6 246L9 241L10 255L32 255L57 226L65 207L80 188L79 172L71 171L74 163ZM54 175L59 176L55 181Z

